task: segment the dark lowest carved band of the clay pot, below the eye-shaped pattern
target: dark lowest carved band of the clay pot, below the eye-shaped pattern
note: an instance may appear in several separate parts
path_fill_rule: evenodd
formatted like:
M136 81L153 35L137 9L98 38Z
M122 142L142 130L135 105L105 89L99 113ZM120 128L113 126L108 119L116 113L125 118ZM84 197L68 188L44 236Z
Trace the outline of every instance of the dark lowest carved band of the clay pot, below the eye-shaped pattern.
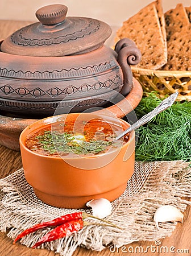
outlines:
M17 101L0 98L2 112L12 113L14 117L38 117L53 115L57 106L62 113L82 112L86 109L101 107L108 103L107 98L117 96L115 90L109 90L103 95L92 98L70 100L69 96L63 101ZM20 114L22 113L22 114Z

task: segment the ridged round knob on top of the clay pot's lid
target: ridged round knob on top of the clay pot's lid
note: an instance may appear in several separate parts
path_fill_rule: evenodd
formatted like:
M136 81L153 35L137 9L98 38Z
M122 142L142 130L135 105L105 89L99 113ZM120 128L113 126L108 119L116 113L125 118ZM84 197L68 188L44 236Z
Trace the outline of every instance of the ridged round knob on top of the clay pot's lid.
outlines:
M36 11L36 18L43 25L59 24L65 20L68 7L65 5L47 5Z

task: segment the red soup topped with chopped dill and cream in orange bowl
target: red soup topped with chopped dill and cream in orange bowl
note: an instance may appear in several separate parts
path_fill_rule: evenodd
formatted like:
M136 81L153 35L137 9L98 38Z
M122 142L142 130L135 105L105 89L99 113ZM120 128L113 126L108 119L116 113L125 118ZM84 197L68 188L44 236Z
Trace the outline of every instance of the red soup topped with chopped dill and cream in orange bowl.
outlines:
M28 135L26 147L41 155L97 155L128 141L126 136L123 141L113 142L121 129L121 126L98 118L88 122L57 122Z

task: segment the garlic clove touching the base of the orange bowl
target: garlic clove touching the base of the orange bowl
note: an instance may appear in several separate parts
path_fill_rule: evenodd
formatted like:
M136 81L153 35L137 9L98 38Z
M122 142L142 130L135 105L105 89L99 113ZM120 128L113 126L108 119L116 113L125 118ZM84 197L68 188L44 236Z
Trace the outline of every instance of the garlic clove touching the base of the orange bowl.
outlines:
M87 207L92 208L93 216L98 218L105 218L111 214L111 203L105 198L93 199L86 203Z

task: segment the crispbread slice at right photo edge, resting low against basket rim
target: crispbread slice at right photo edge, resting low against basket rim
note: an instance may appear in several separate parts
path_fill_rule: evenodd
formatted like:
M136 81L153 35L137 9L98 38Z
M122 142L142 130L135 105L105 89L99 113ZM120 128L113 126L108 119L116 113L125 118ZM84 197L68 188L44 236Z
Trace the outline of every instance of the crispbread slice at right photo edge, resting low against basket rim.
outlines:
M168 45L168 63L164 70L191 71L191 25L171 36Z

